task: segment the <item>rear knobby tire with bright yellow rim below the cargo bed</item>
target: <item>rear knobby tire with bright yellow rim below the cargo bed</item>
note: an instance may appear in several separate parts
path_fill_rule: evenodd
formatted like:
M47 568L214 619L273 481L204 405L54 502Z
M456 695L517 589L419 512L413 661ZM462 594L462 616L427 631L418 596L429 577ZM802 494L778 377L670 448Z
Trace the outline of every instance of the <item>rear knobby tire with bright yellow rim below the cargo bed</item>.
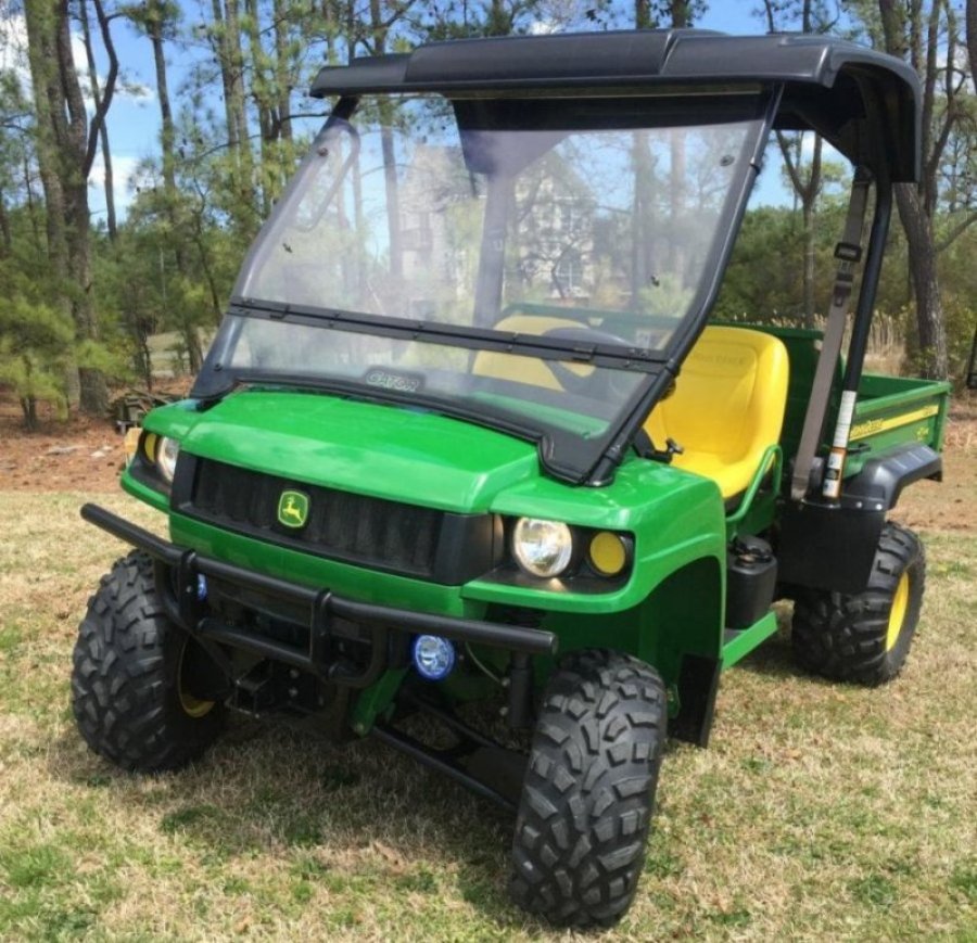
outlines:
M833 680L873 687L891 680L905 664L925 582L919 538L887 523L861 592L807 590L798 596L791 629L798 663Z

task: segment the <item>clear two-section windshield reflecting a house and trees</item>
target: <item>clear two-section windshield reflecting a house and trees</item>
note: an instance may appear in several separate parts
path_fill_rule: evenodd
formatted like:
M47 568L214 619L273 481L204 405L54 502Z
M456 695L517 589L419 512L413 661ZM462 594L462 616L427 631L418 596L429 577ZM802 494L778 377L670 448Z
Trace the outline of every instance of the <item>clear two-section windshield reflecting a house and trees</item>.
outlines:
M762 124L740 98L696 124L674 99L365 100L319 133L236 289L305 310L241 318L212 360L596 445L701 315Z

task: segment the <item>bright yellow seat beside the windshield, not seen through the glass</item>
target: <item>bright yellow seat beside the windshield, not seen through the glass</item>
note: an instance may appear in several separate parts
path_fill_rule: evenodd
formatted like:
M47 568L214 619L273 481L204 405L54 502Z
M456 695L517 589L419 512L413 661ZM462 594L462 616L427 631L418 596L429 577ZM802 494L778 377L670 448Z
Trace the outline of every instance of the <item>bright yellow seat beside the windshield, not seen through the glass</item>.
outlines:
M645 421L656 448L685 450L672 463L713 479L728 500L746 490L781 437L789 365L783 342L746 328L709 327L682 366L675 392Z

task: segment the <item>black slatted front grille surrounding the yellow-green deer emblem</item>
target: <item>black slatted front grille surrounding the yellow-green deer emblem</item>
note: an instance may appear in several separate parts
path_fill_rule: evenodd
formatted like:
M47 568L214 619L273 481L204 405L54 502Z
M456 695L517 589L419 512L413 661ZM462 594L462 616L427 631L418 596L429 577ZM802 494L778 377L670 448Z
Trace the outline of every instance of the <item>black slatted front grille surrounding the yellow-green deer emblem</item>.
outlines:
M212 459L181 456L180 464L174 483L174 506L179 511L307 553L440 583L462 583L487 572L500 551L495 547L498 528L487 514L452 514ZM278 520L282 493L290 489L309 499L308 519L301 528Z

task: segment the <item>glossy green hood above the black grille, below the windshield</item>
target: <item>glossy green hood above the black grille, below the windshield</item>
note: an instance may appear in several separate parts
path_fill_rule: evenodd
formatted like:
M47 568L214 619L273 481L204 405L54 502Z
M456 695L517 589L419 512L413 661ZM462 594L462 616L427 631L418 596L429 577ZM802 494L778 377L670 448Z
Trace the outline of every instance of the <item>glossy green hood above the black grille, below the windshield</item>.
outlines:
M156 410L148 428L193 455L388 500L481 512L540 474L532 443L432 412L267 390L204 412L181 405Z

